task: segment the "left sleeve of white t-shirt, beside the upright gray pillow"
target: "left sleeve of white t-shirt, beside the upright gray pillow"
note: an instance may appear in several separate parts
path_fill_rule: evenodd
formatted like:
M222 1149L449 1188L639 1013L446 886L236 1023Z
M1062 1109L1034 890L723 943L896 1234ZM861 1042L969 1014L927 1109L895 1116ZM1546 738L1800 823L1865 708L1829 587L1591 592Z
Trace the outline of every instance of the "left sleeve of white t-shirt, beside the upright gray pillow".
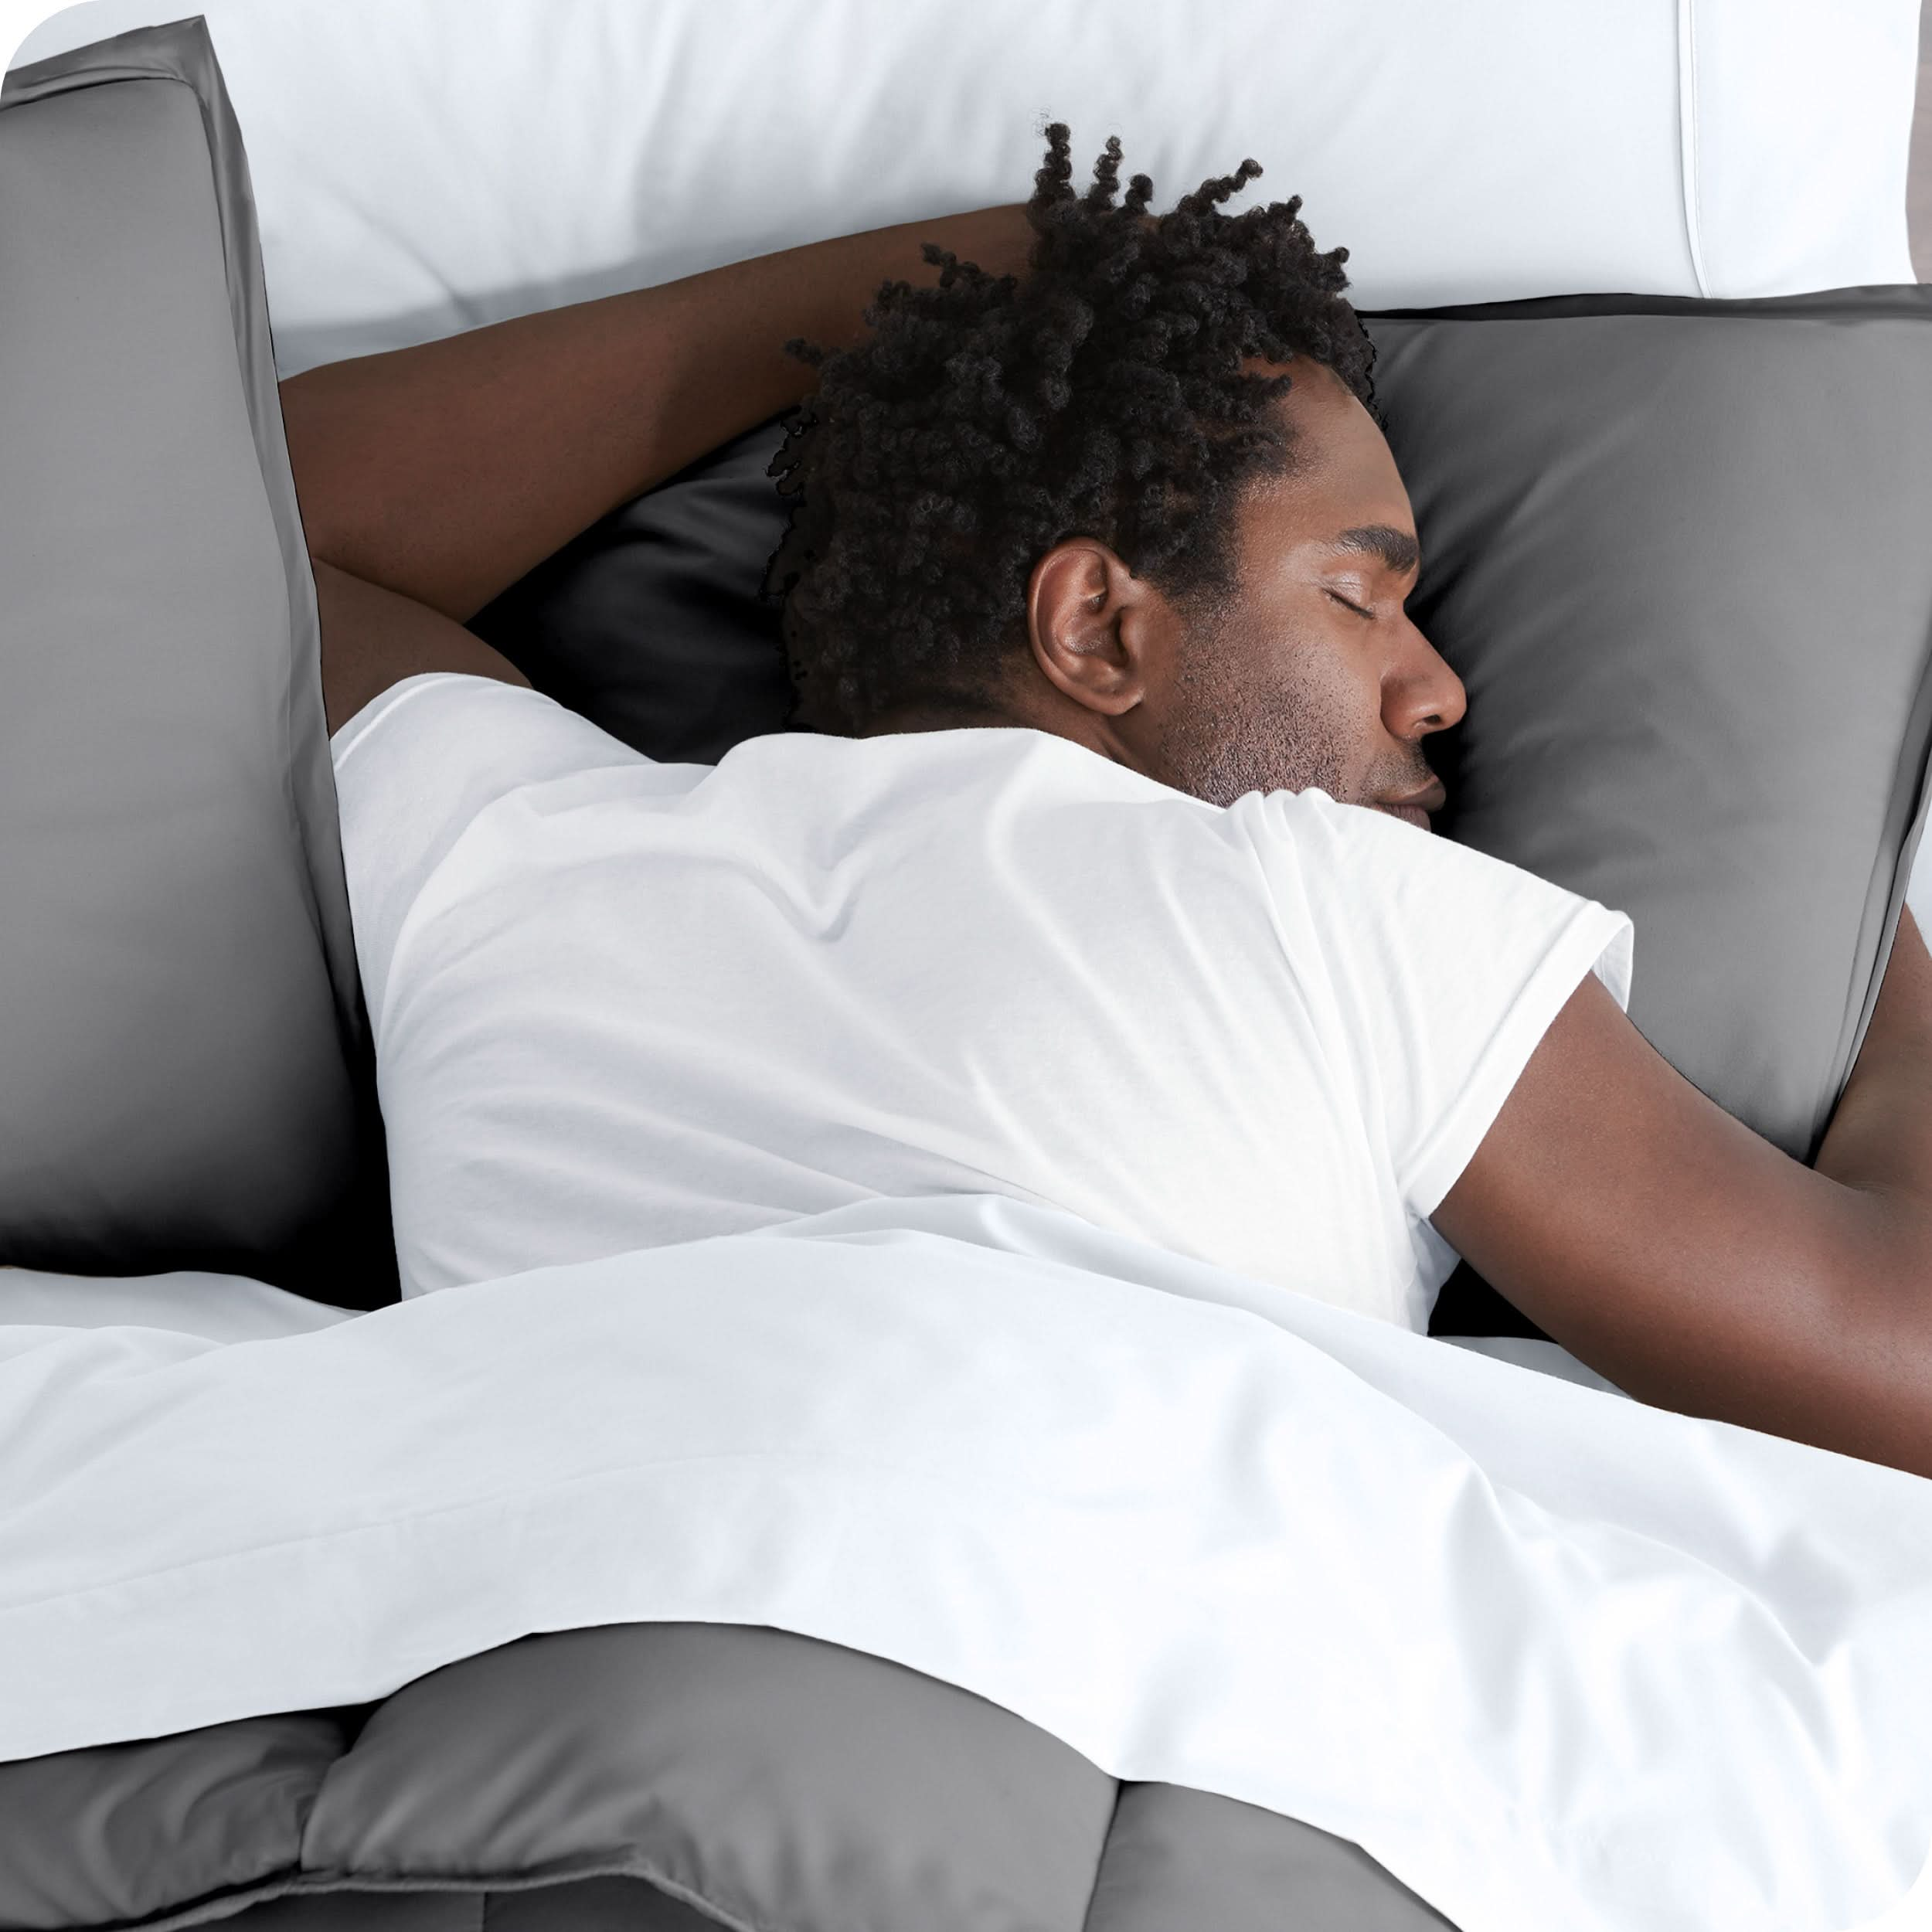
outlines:
M599 765L649 763L522 684L431 670L402 678L330 740L355 960L381 1030L410 908L497 800Z

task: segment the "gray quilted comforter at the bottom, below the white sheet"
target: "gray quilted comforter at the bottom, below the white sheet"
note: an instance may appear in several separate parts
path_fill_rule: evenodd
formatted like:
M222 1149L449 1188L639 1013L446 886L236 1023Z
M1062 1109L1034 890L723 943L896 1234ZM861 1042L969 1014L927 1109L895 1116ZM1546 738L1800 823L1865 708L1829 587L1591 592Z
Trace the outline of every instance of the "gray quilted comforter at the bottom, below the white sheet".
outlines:
M367 1710L0 1764L0 1928L1424 1932L1360 1847L781 1631L529 1636Z

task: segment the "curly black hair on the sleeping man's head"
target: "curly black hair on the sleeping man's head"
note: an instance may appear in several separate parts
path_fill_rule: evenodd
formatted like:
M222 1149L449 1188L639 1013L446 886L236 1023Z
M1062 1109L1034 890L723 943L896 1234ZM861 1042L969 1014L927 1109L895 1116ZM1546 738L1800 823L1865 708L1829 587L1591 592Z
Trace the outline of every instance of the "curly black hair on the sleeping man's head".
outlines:
M1242 375L1242 357L1306 355L1374 410L1349 251L1316 253L1300 195L1219 214L1262 172L1244 160L1148 216L1146 174L1115 203L1119 135L1084 197L1068 153L1055 122L1024 278L927 242L939 286L883 284L856 348L784 344L819 369L767 468L790 500L763 582L784 601L788 728L997 711L1034 564L1065 537L1213 609L1235 589L1242 487L1294 462L1269 408L1291 377Z

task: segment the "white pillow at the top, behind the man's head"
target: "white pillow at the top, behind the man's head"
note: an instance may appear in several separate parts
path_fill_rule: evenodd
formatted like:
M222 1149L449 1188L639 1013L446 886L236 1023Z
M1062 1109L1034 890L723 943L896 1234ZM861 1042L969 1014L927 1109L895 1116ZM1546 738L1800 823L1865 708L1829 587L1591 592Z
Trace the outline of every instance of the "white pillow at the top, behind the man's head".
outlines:
M27 0L33 6L35 0ZM180 15L87 0L37 60ZM1913 280L1918 0L201 0L276 361L1024 201L1302 195L1360 307Z

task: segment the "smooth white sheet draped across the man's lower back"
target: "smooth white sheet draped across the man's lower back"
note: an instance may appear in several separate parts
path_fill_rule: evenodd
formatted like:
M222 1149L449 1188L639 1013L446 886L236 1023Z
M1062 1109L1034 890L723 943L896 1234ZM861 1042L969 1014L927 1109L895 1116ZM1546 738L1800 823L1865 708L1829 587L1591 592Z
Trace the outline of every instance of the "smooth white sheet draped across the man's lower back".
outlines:
M0 1327L0 1758L761 1623L1463 1932L1932 1924L1932 1482L995 1196L313 1333Z

